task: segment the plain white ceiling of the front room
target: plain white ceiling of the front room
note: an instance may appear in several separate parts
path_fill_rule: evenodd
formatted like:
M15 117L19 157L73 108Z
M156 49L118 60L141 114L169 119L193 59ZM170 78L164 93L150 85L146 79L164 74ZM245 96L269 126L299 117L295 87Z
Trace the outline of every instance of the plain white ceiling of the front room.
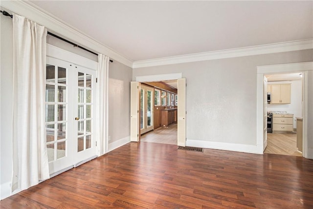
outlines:
M132 61L313 38L313 1L31 1Z

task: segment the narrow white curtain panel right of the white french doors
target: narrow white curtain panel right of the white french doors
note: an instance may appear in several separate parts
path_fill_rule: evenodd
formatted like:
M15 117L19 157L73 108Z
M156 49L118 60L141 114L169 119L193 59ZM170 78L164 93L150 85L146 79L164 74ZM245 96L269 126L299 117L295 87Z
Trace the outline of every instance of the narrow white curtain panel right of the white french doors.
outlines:
M100 155L108 152L109 62L109 57L98 54L97 136L100 140Z

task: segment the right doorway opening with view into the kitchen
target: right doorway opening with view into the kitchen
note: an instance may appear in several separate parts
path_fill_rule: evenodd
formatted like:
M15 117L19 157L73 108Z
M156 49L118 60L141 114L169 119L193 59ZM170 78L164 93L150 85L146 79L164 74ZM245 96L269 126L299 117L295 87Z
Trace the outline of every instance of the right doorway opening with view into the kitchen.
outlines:
M303 118L302 72L265 76L268 79L268 129L264 153L301 157L302 126L297 124Z

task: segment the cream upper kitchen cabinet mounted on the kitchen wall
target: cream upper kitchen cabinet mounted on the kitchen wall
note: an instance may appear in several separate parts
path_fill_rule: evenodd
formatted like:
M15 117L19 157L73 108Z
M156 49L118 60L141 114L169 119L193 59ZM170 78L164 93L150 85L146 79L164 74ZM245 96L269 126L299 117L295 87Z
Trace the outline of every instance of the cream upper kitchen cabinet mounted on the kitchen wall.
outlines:
M270 85L270 93L270 104L291 103L291 84L272 84Z

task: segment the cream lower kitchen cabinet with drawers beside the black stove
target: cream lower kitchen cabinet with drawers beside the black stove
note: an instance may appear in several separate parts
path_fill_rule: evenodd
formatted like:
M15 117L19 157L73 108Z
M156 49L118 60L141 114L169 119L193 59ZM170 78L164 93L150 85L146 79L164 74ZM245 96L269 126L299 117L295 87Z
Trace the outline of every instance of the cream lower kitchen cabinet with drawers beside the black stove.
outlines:
M273 132L293 131L293 114L273 114Z

